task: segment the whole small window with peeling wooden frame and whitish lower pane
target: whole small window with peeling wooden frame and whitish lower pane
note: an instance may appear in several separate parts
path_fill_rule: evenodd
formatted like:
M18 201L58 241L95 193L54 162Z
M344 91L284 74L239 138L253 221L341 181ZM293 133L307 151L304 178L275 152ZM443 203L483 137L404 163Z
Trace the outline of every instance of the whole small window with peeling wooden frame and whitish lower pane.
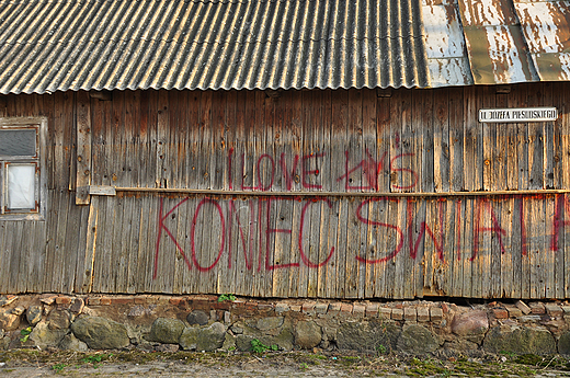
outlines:
M0 118L0 220L43 220L46 118Z

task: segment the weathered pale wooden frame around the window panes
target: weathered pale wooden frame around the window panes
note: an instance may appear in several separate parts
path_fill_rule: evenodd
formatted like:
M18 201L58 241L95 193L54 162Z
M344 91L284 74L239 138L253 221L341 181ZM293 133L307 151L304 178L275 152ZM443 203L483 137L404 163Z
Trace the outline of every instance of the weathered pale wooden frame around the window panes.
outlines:
M45 220L47 208L46 167L46 117L0 117L0 129L35 129L36 148L34 156L0 156L0 221ZM10 164L35 164L34 209L8 208L8 167Z

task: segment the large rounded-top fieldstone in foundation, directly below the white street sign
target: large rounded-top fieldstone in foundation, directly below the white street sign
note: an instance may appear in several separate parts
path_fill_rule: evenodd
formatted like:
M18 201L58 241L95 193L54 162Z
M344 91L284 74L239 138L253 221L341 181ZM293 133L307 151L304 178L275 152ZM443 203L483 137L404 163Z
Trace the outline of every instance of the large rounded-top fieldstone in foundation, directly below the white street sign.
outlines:
M491 353L552 354L556 353L556 341L544 328L500 325L489 331L483 350Z

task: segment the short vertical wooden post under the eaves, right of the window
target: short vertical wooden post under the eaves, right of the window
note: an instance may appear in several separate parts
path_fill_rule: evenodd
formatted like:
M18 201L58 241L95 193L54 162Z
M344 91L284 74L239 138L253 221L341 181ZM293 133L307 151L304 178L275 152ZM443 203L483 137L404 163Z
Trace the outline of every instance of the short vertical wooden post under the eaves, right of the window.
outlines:
M91 184L91 99L89 93L77 93L77 175L76 205L89 205Z

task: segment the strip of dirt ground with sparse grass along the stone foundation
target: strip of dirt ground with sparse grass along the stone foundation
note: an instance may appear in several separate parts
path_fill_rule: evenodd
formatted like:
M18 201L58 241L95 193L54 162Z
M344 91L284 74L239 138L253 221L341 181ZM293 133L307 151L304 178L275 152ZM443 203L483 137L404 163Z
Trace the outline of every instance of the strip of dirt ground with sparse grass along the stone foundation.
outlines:
M311 352L0 353L0 377L570 377L560 356L412 357Z

